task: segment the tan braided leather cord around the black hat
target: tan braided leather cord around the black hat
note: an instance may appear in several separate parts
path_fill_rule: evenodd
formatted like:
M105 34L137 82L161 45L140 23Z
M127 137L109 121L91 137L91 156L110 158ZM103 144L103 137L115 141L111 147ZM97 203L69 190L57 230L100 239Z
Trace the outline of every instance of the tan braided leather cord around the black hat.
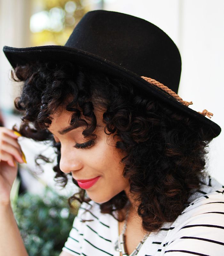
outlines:
M141 78L145 79L149 84L155 85L155 86L159 87L160 89L164 90L169 95L171 95L175 100L182 103L184 106L188 107L189 105L193 104L192 101L188 102L188 101L183 100L182 98L180 98L180 96L178 94L173 92L171 89L169 89L164 84L161 84L160 82L156 81L155 79L152 79L152 78L146 77L146 76L141 76ZM197 112L203 116L208 116L209 118L211 118L213 116L213 114L206 109L204 109L202 112L199 112L199 111L197 111Z

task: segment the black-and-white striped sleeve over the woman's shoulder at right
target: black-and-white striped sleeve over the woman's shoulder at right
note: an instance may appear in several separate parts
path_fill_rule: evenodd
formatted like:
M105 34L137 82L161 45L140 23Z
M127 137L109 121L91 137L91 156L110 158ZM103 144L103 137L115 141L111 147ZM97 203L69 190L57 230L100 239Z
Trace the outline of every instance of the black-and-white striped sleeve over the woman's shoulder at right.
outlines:
M221 256L224 250L224 186L208 176L166 236L167 255ZM174 253L175 252L175 253ZM172 254L173 253L173 254Z

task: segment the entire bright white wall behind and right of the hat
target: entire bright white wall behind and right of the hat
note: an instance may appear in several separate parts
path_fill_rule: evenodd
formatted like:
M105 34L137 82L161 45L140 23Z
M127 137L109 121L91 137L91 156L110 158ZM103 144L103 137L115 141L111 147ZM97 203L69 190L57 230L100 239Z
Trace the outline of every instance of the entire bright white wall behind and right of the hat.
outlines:
M177 44L182 73L178 94L192 108L213 113L222 128L209 147L208 168L224 184L224 1L105 0L104 9L131 14L163 29Z

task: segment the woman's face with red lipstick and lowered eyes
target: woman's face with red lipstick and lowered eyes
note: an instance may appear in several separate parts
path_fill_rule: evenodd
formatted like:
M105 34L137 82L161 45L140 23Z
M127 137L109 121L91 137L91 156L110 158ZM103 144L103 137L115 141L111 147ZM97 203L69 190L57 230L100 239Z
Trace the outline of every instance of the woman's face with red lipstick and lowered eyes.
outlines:
M121 150L115 148L118 136L104 132L103 112L94 111L97 118L97 130L94 144L89 148L75 148L76 143L82 144L90 139L82 135L84 127L78 127L68 132L71 112L63 108L52 116L49 131L53 133L57 142L61 143L60 169L65 173L72 173L75 180L89 180L98 177L92 182L79 182L79 186L86 189L88 196L97 203L104 203L116 196L122 190L129 191L129 182L122 175L124 164L119 163L124 157ZM84 119L84 118L83 118ZM87 121L87 120L86 120ZM90 123L87 121L87 123ZM95 182L95 183L94 183Z

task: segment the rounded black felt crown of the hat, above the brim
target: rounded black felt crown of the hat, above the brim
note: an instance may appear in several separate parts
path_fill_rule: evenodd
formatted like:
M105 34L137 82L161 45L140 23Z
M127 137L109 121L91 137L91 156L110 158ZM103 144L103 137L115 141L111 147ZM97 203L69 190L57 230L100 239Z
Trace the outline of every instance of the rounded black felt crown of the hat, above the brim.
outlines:
M156 79L178 92L179 50L163 30L146 20L120 12L87 12L65 46L92 53L139 76Z

